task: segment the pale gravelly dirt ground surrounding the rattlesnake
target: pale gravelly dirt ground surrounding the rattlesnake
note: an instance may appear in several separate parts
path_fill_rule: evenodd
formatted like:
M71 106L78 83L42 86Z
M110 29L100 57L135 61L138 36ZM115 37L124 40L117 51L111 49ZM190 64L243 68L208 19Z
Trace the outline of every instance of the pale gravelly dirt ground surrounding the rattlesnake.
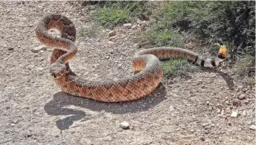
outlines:
M76 2L0 2L0 144L255 144L255 88L236 81L228 68L163 78L153 94L127 103L61 92L48 71L52 50L31 51L42 45L34 28L47 13L68 16L77 31L93 25L90 11ZM79 51L70 63L77 75L132 75L131 59L140 49L132 41L136 30L115 29L110 40L109 30L78 36ZM129 129L119 126L124 120Z

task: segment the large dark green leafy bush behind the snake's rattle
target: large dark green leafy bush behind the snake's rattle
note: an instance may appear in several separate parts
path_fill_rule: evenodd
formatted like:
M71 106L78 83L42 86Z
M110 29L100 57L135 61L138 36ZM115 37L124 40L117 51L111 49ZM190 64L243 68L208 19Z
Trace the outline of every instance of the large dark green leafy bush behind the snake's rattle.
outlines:
M188 31L205 42L233 45L232 59L255 56L255 1L165 1L159 29Z

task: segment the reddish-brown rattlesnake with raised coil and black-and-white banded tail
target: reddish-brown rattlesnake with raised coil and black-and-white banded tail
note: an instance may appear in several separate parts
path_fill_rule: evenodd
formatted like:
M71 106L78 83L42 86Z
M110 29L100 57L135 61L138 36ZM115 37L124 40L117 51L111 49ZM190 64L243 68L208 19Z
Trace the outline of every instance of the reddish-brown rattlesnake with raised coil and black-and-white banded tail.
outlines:
M60 30L61 37L48 33L51 28ZM62 91L104 102L137 100L150 94L159 85L163 68L159 59L187 57L202 67L214 67L226 57L225 45L214 59L203 59L199 54L182 48L149 48L138 51L132 59L132 67L137 74L118 81L91 81L78 77L69 68L68 62L77 54L76 28L73 22L60 14L44 16L36 26L39 42L54 49L51 54L50 73Z

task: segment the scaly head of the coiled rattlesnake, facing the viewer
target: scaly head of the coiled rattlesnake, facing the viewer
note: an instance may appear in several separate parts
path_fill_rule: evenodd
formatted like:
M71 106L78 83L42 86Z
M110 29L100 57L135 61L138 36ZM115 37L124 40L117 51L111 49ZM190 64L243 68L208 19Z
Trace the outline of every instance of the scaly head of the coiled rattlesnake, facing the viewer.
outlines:
M56 62L50 65L50 73L54 79L59 79L66 73L65 63L63 61L57 59Z

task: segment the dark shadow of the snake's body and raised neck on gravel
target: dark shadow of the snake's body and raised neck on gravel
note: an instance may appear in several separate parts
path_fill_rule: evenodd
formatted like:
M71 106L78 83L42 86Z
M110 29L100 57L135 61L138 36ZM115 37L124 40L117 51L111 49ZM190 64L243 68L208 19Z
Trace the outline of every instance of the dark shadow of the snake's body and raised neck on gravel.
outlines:
M153 91L152 94L141 98L121 103L104 103L84 97L76 97L60 91L54 94L53 100L45 104L44 109L48 115L71 115L64 119L56 121L57 128L62 130L69 129L74 121L81 120L86 117L86 112L77 109L68 109L65 106L79 106L81 108L90 109L95 112L112 112L113 114L123 115L125 113L144 112L153 108L161 101L165 100L167 91L162 83Z

